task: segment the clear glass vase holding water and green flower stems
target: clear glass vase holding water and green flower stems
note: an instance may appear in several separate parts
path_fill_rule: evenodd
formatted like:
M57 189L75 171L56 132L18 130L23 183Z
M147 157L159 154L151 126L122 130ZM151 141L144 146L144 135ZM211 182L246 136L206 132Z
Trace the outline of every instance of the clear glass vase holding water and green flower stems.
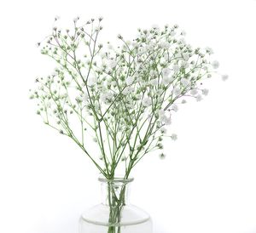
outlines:
M133 179L104 179L102 203L91 207L79 220L80 233L152 233L148 213L129 203Z

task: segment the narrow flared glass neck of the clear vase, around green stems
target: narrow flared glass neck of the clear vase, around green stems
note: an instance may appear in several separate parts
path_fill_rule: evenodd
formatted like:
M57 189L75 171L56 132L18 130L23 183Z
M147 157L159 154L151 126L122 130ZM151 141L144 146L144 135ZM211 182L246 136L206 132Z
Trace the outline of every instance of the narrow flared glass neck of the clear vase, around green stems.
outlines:
M102 185L102 204L107 206L129 203L130 185L133 179L99 179Z

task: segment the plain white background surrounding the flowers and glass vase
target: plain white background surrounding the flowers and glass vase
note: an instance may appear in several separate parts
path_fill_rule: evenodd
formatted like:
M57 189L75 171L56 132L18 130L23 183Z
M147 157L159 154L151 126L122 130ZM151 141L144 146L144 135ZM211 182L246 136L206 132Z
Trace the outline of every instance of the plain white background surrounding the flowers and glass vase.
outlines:
M166 141L133 173L132 202L151 213L154 233L256 232L256 1L1 1L0 232L77 233L100 201L96 169L69 139L46 128L28 99L54 64L35 43L62 20L103 16L102 40L137 27L177 23L195 46L214 48L228 82L173 117ZM143 232L142 232L143 233Z

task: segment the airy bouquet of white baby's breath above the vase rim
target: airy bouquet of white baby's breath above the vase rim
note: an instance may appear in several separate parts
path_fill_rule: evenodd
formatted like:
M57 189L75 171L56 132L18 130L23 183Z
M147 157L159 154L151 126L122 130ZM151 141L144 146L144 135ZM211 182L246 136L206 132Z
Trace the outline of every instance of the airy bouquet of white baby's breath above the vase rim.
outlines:
M101 23L80 25L76 18L72 30L54 27L38 43L57 67L36 79L31 99L44 123L73 139L103 176L113 179L124 169L127 179L143 156L163 149L165 137L177 139L166 135L172 112L188 97L207 95L201 84L218 61L209 60L211 48L186 43L177 25L139 29L132 41L119 35L122 44L113 47L98 43ZM90 151L92 142L98 151Z

